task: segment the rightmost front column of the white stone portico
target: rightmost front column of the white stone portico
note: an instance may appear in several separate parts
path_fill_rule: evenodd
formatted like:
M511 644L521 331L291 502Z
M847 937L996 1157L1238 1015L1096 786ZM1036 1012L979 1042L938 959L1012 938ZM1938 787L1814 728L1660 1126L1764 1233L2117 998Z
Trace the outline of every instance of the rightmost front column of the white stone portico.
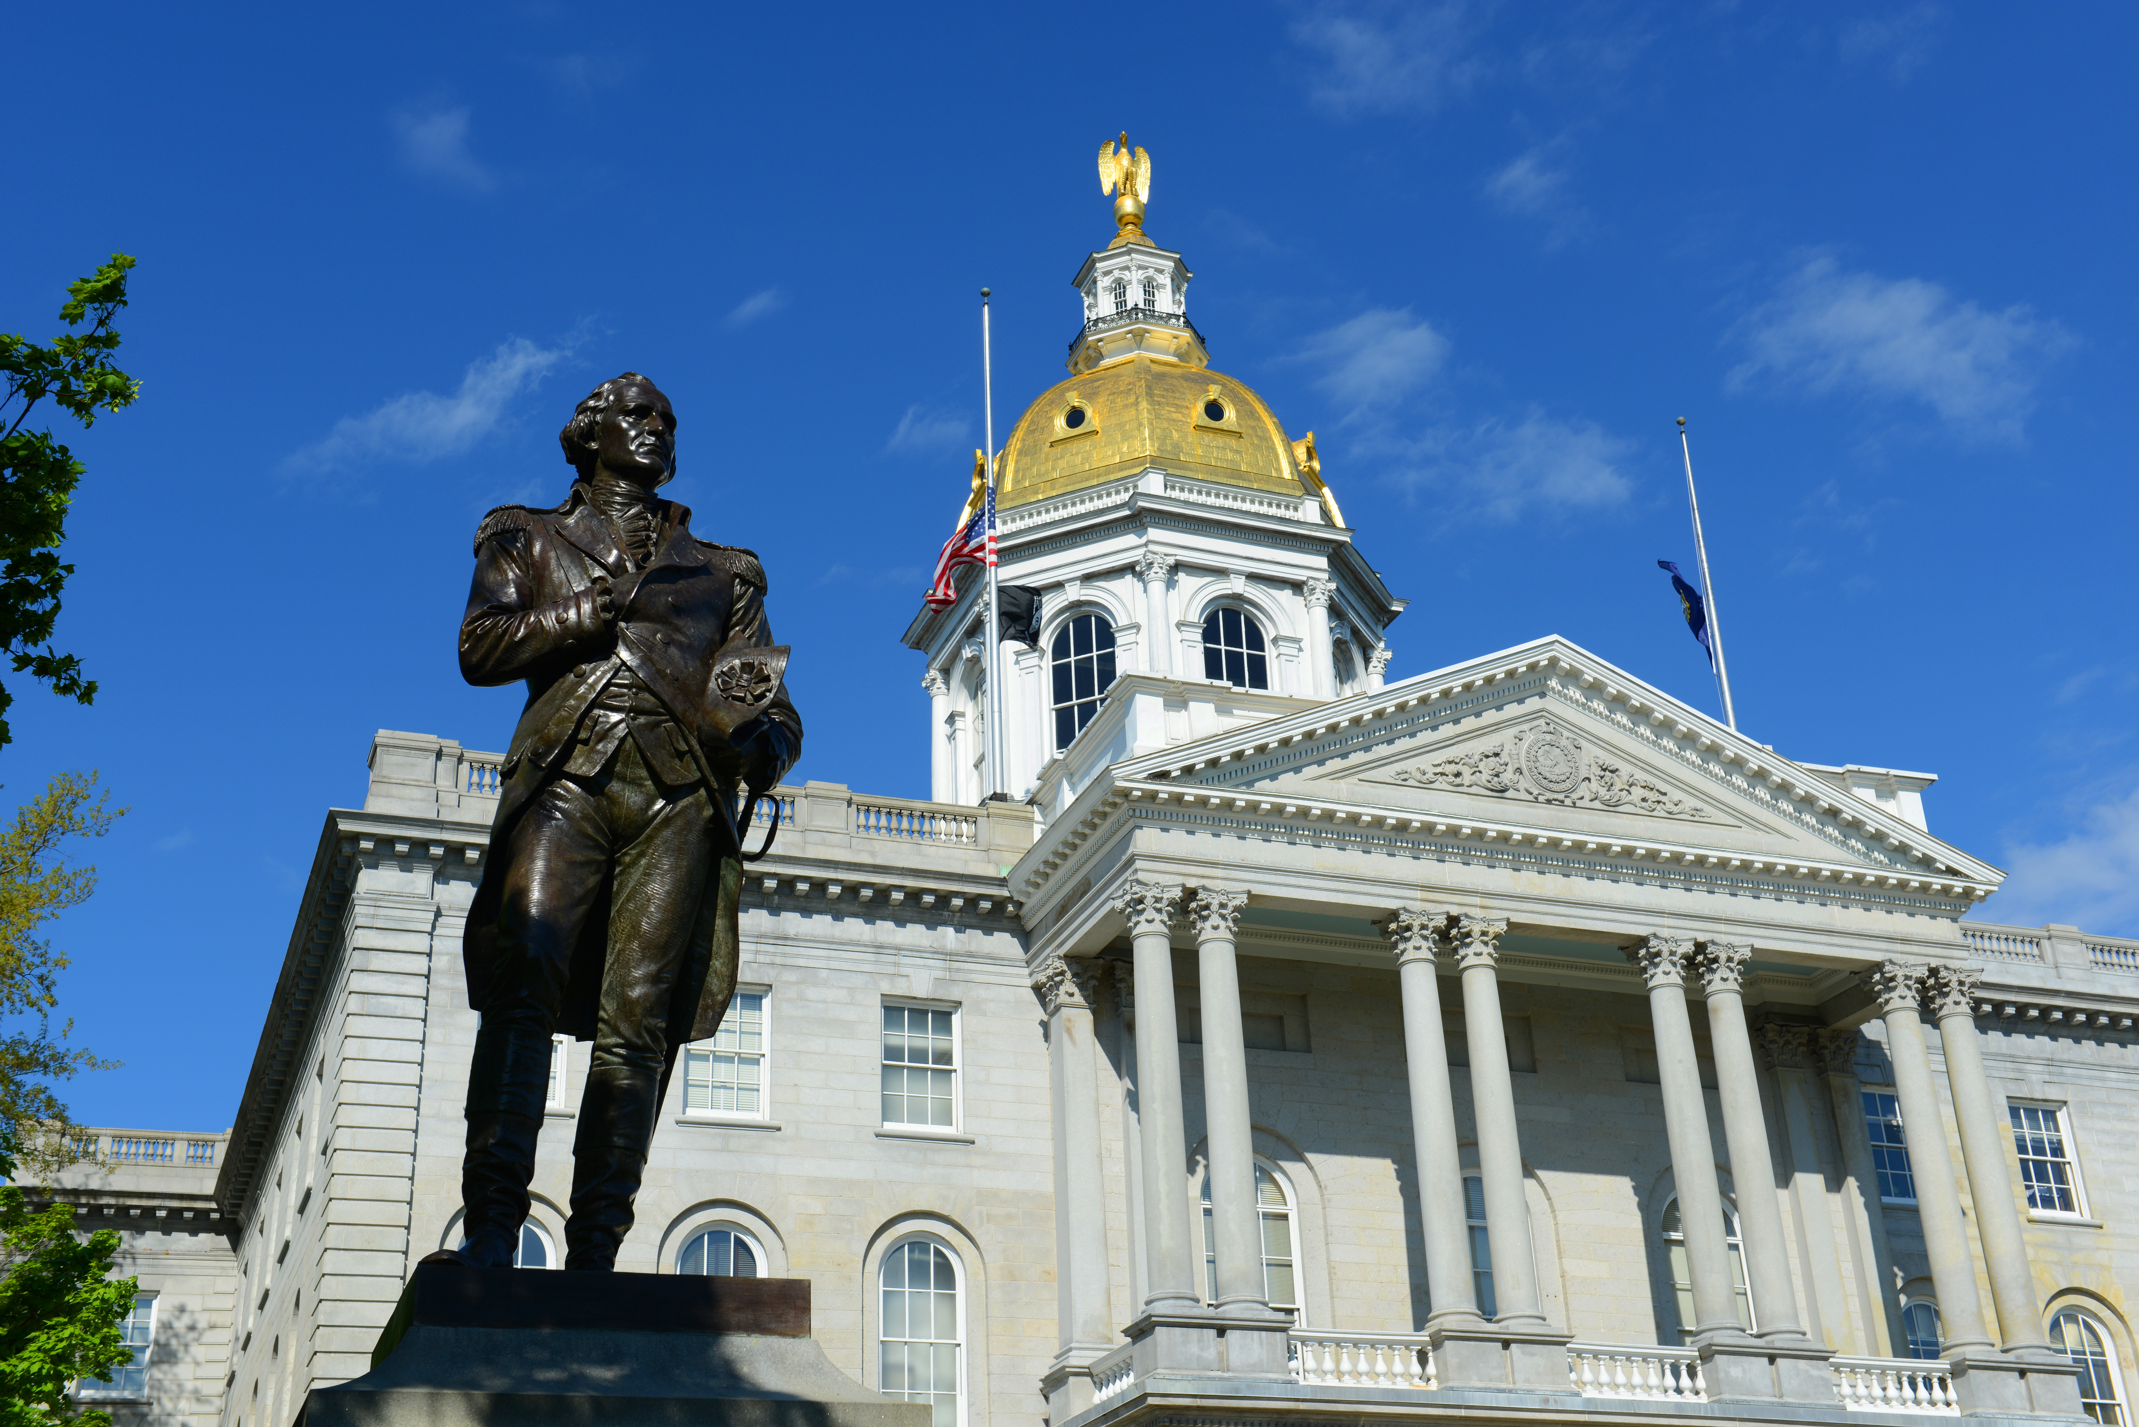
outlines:
M1983 973L1968 967L1932 967L1925 978L1925 995L1932 1003L1932 1016L1938 1018L1940 1048L1946 1053L1946 1089L1953 1091L1953 1119L1961 1127L1968 1194L1976 1200L1976 1237L1983 1239L1983 1260L1991 1271L1998 1341L2006 1352L2015 1348L2047 1350L2034 1273L2028 1269L2028 1243L2021 1237L2019 1207L2013 1200L2013 1175L2006 1170L2006 1132L1998 1125L1991 1080L1983 1074L1983 1046L1976 1044L1976 986L1981 980ZM1910 1149L1917 1149L1914 1140L1910 1140Z

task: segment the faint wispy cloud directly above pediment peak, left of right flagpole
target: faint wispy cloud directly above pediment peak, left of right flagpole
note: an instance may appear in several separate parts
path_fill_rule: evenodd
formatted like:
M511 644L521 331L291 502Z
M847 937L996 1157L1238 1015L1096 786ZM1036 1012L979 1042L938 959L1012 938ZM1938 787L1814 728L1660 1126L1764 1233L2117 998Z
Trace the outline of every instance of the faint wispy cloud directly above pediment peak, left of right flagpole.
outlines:
M1491 520L1527 511L1570 516L1628 498L1621 464L1634 445L1596 421L1568 421L1532 406L1523 419L1444 426L1403 443L1390 475L1412 494Z

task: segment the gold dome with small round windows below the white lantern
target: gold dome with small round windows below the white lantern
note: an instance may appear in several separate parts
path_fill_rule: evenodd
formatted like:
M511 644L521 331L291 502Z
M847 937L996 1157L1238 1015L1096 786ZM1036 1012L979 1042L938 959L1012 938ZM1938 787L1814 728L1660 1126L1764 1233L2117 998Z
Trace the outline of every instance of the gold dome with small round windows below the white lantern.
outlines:
M1286 428L1247 385L1138 353L1048 387L1025 409L1003 443L995 503L1031 505L1147 466L1294 498L1311 490Z

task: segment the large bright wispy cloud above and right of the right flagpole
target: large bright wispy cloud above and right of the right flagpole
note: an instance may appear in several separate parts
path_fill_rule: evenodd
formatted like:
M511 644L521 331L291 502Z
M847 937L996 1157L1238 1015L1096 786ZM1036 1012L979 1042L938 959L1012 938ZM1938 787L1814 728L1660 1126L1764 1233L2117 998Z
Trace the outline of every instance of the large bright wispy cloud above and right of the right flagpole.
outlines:
M1929 406L1964 439L2017 445L2043 366L2073 336L2034 308L1987 312L1923 278L1844 272L1816 252L1735 329L1750 355L1728 385L1760 379Z

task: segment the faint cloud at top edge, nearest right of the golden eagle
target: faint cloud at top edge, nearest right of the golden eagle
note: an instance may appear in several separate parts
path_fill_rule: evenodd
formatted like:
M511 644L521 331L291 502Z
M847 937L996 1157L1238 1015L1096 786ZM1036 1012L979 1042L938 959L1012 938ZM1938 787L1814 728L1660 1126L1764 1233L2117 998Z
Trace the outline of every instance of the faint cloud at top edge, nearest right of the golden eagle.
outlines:
M1484 73L1472 53L1469 6L1322 4L1292 39L1322 56L1309 98L1339 116L1431 111Z

